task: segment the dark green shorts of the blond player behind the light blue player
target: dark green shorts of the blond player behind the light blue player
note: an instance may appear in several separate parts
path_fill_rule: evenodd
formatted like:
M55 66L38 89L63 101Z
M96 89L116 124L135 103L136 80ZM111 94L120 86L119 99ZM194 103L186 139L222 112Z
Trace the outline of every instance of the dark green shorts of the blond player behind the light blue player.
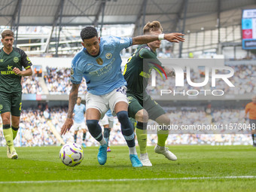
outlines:
M128 98L128 114L129 117L135 118L136 113L143 108L148 112L148 118L156 120L162 114L166 114L163 108L154 100L151 96L145 96L145 98L139 98L131 93L127 93Z

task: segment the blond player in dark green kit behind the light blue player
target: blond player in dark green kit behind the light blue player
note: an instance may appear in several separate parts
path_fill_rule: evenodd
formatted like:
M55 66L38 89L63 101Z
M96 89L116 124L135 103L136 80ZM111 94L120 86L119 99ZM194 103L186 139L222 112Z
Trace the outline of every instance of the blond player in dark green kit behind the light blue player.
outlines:
M159 35L157 41L149 42L148 44L139 45L133 56L128 59L123 71L123 76L127 82L127 98L129 99L128 114L137 120L136 136L140 148L140 160L143 166L152 166L147 153L147 123L148 119L155 120L157 123L169 125L170 120L163 111L163 108L146 93L148 86L148 78L151 76L152 67L149 62L145 64L143 59L152 59L161 66L161 62L157 59L157 48L160 47L161 41L165 39L162 34L163 29L158 21L148 22L143 28L144 35ZM181 33L173 33L183 35ZM182 39L184 41L184 39ZM179 41L172 41L179 42ZM168 76L175 75L170 69L164 68ZM165 147L165 142L168 137L168 130L160 130L157 132L158 141L154 148L157 154L163 154L168 160L177 160L175 154L172 154L168 148Z

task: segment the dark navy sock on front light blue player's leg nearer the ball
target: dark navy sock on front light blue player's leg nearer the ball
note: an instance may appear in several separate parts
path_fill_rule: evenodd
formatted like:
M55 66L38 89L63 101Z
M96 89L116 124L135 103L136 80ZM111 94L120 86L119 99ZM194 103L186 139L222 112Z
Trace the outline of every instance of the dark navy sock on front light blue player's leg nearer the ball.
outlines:
M98 142L101 142L103 139L102 136L102 127L99 126L99 120L87 120L88 130L90 135L93 136ZM105 141L105 139L103 139ZM102 145L102 143L101 143Z

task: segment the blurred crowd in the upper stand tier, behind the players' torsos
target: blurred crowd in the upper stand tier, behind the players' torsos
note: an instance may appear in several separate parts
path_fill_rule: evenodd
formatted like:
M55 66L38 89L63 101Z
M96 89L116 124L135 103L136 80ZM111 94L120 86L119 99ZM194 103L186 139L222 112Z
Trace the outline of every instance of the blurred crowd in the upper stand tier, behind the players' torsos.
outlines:
M184 80L184 87L175 87L175 78L168 78L162 80L160 75L157 75L156 86L151 86L151 78L148 83L148 93L150 95L159 94L160 90L173 90L175 87L176 92L182 90L223 90L224 94L242 95L245 93L256 93L256 87L254 86L254 79L256 78L256 66L241 65L231 66L234 69L235 74L232 78L229 78L230 82L235 87L229 87L223 80L217 79L216 87L212 87L210 81L204 87L191 87L187 84L187 80ZM72 88L70 82L70 69L48 68L44 73L44 82L47 86L47 90L50 94L69 94ZM209 75L211 79L211 74ZM191 69L190 79L192 82L200 83L205 80L204 72L195 72ZM24 77L22 80L23 93L42 94L41 84L38 82L38 77L35 75ZM79 87L79 94L85 94L87 84L83 78L81 86ZM204 92L200 92L204 93ZM190 93L193 94L193 93ZM194 92L196 94L196 92Z

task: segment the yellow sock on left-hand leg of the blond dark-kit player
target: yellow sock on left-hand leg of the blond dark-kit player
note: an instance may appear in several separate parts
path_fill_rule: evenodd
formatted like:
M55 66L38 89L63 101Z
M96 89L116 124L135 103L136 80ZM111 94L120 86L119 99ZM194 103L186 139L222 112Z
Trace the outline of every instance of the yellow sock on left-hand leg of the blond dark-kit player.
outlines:
M147 130L142 130L143 125L146 127L147 123L138 122L136 126L136 136L139 144L139 151L141 154L147 153Z

